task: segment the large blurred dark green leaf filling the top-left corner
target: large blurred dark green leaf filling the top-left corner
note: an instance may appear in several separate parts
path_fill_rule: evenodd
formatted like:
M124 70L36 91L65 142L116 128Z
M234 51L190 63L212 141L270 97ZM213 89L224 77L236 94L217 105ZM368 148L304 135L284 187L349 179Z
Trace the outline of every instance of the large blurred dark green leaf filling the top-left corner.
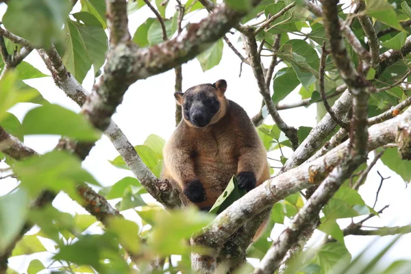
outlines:
M70 1L11 1L3 15L3 24L36 47L49 48L51 43L62 39L62 25L70 11Z

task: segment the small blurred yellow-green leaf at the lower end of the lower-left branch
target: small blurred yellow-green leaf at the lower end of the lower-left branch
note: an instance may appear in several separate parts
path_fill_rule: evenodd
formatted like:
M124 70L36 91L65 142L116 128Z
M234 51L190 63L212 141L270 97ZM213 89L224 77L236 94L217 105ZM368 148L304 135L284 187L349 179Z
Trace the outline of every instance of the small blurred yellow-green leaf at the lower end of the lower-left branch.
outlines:
M123 247L132 253L140 251L140 237L138 232L140 228L132 221L114 217L108 219L108 229L119 237Z

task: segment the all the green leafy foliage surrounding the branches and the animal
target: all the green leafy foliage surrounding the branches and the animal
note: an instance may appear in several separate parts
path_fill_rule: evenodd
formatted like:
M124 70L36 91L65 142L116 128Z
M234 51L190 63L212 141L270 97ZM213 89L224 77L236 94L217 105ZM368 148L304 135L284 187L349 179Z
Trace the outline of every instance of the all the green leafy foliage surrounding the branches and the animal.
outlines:
M327 37L323 18L313 16L301 5L301 2L296 1L297 5L294 8L275 19L256 38L259 42L264 40L263 53L275 53L284 64L284 67L277 70L272 77L270 88L273 89L271 96L273 103L279 104L284 99L290 98L292 92L297 89L301 99L309 99L310 104L317 104L319 113L317 119L321 119L326 112L322 109L322 103L319 103L319 53ZM242 23L251 22L252 24L261 20L261 18L256 18L257 14L273 16L292 1L279 0L276 3L261 1L252 9L251 1L248 0L226 0L225 3L241 12L251 10L242 19ZM49 49L53 43L62 56L62 62L69 74L81 84L90 69L93 70L95 80L99 77L99 71L106 61L109 48L108 23L104 1L81 0L77 5L81 8L79 12L73 11L71 1L68 0L8 1L8 8L3 16L3 25L5 29L29 40L36 47ZM127 1L127 12L133 14L145 5L145 1L142 0ZM167 16L167 5L171 5L169 1L155 0L153 5L164 20L166 36L174 37L177 32L178 12L173 16ZM198 1L188 0L183 5L186 17L203 10L203 6ZM344 20L349 17L341 5L339 5L338 15ZM371 16L377 34L390 27L393 28L392 32L379 37L379 53L384 53L389 49L401 49L409 37L410 27L401 25L402 22L411 18L411 8L406 1L367 0L366 8L360 12L360 15ZM252 19L256 20L251 21ZM368 47L364 42L368 39L360 23L356 18L351 19L353 19L351 27L358 40L362 46ZM190 26L184 25L183 27L187 31ZM253 29L256 28L254 25ZM281 35L279 49L274 49L276 35ZM295 38L296 36L299 38ZM8 54L14 55L21 50L21 45L14 44L8 38L4 40ZM132 42L141 48L160 47L164 39L158 18L152 15L137 26L132 34ZM353 64L358 67L359 58L351 45L349 43L346 45ZM223 39L219 39L210 43L206 51L199 53L196 62L199 62L203 72L206 72L220 64L226 51L227 47ZM263 60L269 59L263 57ZM2 72L5 70L5 61L0 62ZM377 77L376 69L370 69L366 79L370 80L376 88L393 85L409 70L410 62L409 55L403 56L403 60L393 66L388 66L384 73L378 75L378 79L375 78ZM327 72L325 75L326 95L338 96L335 94L336 88L344 82L331 58L326 59L325 71ZM15 70L2 73L0 79L1 127L21 141L29 135L58 135L71 138L75 142L99 140L101 132L92 127L82 114L49 103L38 90L23 81L47 76L32 64L24 61L18 64ZM408 96L410 96L408 84L397 84L385 91L371 94L369 116L382 114L407 99ZM35 105L35 108L25 114L21 122L10 112L10 108L18 103ZM304 126L297 129L300 143L307 138L311 129L311 127ZM284 165L288 159L282 148L290 148L291 145L278 125L263 123L257 131L266 151L281 153L276 162L280 166ZM134 146L142 162L157 177L160 177L163 165L164 144L164 139L151 134L143 144ZM127 273L134 267L134 263L127 260L126 252L131 252L132 255L137 254L140 258L138 267L142 270L148 267L150 260L158 256L164 258L174 255L182 256L182 260L170 266L170 269L173 273L177 271L190 273L188 259L191 251L188 243L190 236L198 233L210 224L216 214L223 212L234 201L245 195L244 190L238 189L236 177L233 175L225 191L210 210L210 214L199 212L195 208L168 211L157 204L149 203L146 199L147 190L134 177L126 176L111 186L101 186L98 180L82 167L79 158L66 151L55 150L42 155L32 155L21 161L14 161L5 153L0 153L0 160L3 159L17 176L18 187L0 197L0 253L12 244L14 238L21 233L26 221L29 221L37 225L40 230L35 234L25 234L18 241L11 256L35 254L37 258L40 258L40 252L52 252L52 260L55 262L53 265L60 262L61 265L58 265L61 271ZM410 162L401 160L397 149L385 149L381 160L404 181L410 181ZM122 155L108 161L119 169L129 171L129 166L125 164ZM365 166L361 166L359 171L364 169ZM90 214L72 215L53 205L40 209L33 207L30 203L46 189L53 190L55 193L64 192L71 199L81 203L79 184L86 184L97 189L101 200L102 198L107 199L119 212L129 210L137 214L142 220L141 223L120 217L110 217L102 224L101 220L98 221ZM305 203L306 199L303 199L299 192L275 203L266 231L247 250L247 256L261 259L271 247L273 228L288 223ZM378 213L365 203L358 191L349 185L349 182L346 182L322 209L321 222L317 227L333 241L324 245L316 245L311 251L304 251L293 264L290 264L290 269L296 271L294 273L348 273L344 271L350 269L353 273L358 270L364 271L361 273L371 271L395 241L393 240L392 245L388 245L382 253L376 254L375 260L367 261L363 253L358 258L351 258L345 246L344 231L338 224L340 219L370 214L377 215ZM92 226L102 227L102 232L95 233L90 229ZM53 242L55 249L49 248L44 239ZM47 265L35 258L29 262L27 273L38 273L38 271L47 269ZM401 260L394 262L384 270L378 269L375 273L401 273L410 266L410 261ZM249 268L250 265L247 267Z

